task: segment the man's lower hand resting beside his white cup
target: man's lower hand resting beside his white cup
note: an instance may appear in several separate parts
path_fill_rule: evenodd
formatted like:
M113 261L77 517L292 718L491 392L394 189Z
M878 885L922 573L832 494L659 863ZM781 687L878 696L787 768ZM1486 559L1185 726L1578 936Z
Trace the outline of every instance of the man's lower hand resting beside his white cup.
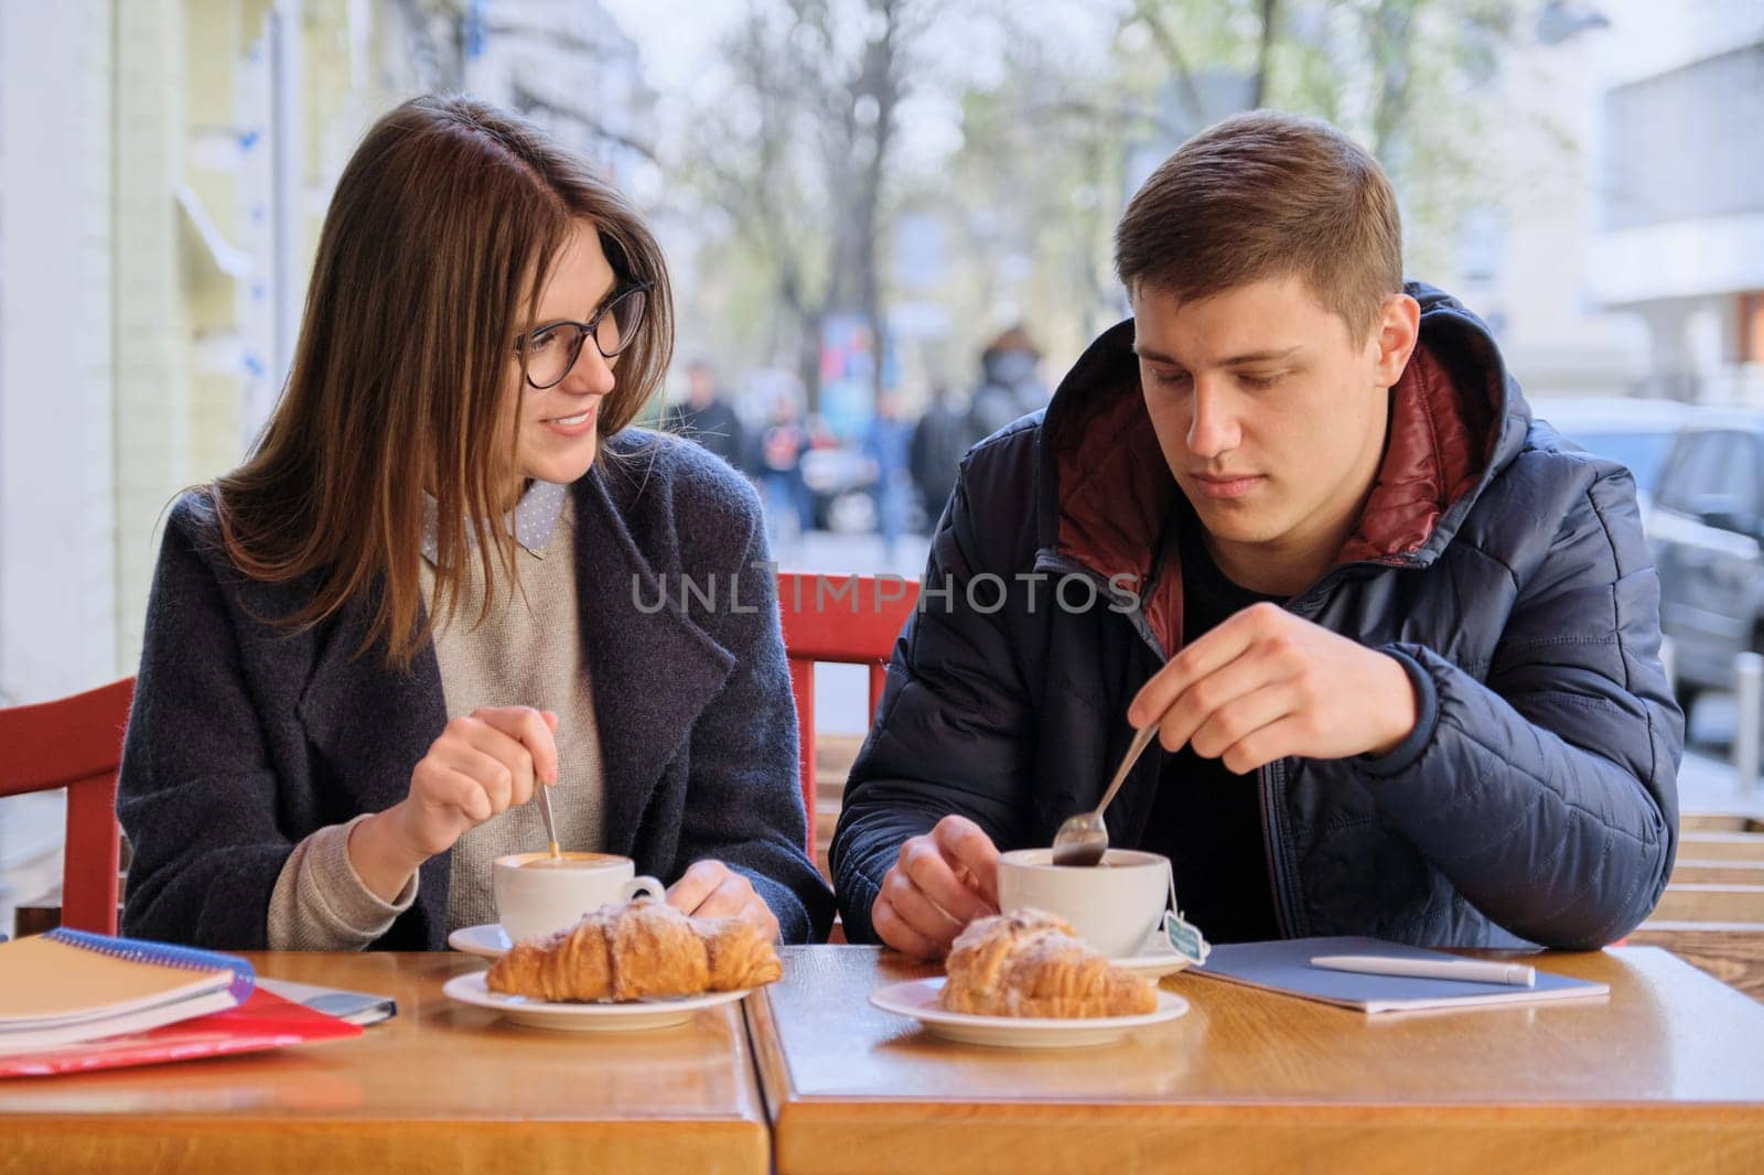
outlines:
M896 951L942 958L963 926L997 912L998 849L979 824L949 815L900 847L870 924Z

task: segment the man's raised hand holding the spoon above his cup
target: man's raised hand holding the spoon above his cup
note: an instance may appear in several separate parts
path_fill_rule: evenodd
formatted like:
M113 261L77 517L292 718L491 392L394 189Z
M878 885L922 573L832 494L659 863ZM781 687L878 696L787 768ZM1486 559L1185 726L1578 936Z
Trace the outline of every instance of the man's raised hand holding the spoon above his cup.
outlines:
M1272 603L1256 603L1182 649L1145 683L1127 722L1159 725L1244 775L1302 755L1383 755L1415 729L1415 686L1397 658Z

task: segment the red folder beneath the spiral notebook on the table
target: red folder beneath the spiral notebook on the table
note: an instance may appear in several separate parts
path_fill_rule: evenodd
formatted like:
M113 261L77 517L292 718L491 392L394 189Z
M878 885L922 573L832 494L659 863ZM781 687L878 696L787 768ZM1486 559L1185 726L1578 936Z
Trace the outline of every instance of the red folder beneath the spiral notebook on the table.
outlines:
M180 1020L148 1032L0 1057L0 1078L157 1066L166 1060L258 1053L349 1036L362 1036L360 1025L344 1023L258 988L238 1007L208 1016Z

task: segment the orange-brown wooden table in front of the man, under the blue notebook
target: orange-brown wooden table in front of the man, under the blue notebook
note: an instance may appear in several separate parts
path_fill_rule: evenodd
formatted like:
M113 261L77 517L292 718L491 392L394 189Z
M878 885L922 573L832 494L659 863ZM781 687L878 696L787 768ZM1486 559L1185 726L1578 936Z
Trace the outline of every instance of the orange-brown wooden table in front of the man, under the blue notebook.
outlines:
M931 969L799 947L748 1018L781 1175L1764 1171L1764 1007L1656 947L1540 962L1611 997L1369 1018L1178 974L1173 1023L998 1050L866 1002Z

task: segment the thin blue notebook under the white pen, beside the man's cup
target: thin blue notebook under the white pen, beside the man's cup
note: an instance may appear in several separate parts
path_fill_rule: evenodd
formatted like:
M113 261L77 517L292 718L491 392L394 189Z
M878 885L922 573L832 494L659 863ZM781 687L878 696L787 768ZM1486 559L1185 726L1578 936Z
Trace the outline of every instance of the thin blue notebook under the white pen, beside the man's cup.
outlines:
M1312 967L1318 954L1379 954L1387 958L1459 958L1445 951L1385 942L1381 939L1282 939L1275 942L1228 942L1215 946L1192 976L1212 976L1252 988L1284 992L1367 1013L1424 1011L1438 1007L1484 1007L1536 1000L1609 995L1603 983L1538 972L1535 988L1506 988L1459 979L1413 979L1408 976L1362 976Z

